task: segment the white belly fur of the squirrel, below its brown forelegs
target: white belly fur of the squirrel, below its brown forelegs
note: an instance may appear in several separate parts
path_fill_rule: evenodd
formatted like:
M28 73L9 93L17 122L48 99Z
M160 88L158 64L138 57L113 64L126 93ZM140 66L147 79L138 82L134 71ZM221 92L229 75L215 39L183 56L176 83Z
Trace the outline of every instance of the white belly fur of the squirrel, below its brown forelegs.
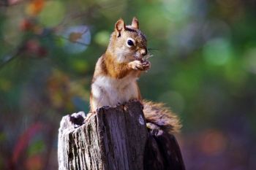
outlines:
M138 98L136 80L134 75L128 75L122 79L113 79L107 76L97 77L91 85L94 106L97 108L114 106Z

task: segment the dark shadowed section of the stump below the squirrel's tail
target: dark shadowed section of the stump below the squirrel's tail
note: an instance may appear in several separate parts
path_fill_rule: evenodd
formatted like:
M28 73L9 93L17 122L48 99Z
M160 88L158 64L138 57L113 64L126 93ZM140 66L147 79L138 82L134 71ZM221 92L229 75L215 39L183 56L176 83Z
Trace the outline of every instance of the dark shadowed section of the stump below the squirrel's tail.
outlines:
M153 123L147 123L147 127L149 136L145 147L144 169L185 170L175 136Z

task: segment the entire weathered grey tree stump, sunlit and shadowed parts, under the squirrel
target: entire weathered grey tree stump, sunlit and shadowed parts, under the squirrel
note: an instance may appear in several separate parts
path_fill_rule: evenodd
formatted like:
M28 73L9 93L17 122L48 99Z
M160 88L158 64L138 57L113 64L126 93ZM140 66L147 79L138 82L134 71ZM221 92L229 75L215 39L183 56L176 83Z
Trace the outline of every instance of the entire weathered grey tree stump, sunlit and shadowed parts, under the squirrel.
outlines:
M184 170L173 134L146 123L139 101L64 116L59 128L59 170Z

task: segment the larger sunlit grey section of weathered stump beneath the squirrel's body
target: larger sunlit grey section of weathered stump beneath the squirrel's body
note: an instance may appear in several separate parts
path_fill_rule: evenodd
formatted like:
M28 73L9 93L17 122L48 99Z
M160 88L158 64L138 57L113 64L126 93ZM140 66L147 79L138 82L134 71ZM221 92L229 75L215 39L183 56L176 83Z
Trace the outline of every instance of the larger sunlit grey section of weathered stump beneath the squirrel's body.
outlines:
M138 101L105 107L83 124L83 112L62 118L59 170L143 170L148 131Z

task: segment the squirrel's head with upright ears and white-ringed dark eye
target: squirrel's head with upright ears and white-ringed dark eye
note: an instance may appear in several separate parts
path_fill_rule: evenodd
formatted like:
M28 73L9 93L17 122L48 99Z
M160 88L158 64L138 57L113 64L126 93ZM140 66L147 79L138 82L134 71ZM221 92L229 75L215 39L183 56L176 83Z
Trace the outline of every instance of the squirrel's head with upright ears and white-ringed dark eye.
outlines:
M108 50L119 62L141 60L148 55L146 36L140 31L137 18L132 19L130 26L122 19L116 22Z

